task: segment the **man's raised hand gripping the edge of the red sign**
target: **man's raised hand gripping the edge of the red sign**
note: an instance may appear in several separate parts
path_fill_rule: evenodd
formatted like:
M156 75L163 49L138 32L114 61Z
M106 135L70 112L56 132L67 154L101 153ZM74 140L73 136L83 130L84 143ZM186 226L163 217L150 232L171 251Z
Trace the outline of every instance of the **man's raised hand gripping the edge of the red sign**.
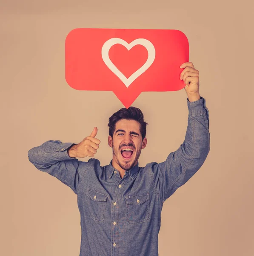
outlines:
M184 68L180 74L180 79L184 81L187 94L199 94L199 71L194 68L192 62L183 63L180 68Z

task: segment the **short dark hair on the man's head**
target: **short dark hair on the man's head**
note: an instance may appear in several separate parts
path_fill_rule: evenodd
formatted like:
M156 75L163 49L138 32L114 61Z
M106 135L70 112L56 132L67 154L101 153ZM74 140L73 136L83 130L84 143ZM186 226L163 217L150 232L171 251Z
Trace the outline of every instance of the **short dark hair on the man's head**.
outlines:
M146 125L147 122L144 121L144 115L139 108L129 107L121 108L119 111L115 112L108 119L109 135L113 138L113 134L116 128L116 123L121 119L136 120L140 123L140 133L142 135L142 140L146 137Z

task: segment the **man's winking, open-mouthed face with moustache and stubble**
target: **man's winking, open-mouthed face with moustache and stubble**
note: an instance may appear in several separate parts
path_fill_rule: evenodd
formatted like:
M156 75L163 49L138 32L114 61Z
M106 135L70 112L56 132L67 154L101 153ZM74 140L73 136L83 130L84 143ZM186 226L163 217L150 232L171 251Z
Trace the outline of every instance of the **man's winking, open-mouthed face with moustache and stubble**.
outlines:
M108 145L113 148L112 164L129 170L137 164L141 149L146 147L147 139L142 140L140 123L136 120L121 119L116 123L113 139L108 136ZM128 151L123 149L128 148ZM115 167L117 169L117 167Z

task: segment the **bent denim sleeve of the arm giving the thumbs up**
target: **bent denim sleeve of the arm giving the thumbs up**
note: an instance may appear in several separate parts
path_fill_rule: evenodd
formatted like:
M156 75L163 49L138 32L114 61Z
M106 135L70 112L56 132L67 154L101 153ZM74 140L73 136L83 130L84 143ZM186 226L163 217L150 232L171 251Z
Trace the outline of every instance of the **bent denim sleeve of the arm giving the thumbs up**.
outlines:
M29 161L40 171L47 172L69 186L77 194L80 184L79 169L87 162L69 157L67 149L75 143L48 140L28 151Z

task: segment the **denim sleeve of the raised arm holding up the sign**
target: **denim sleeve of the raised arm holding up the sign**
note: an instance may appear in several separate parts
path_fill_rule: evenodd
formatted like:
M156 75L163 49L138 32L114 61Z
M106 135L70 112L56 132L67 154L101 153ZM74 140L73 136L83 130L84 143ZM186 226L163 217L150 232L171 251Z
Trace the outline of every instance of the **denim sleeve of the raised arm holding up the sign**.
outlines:
M149 163L162 203L183 186L203 165L210 151L209 113L205 99L189 102L185 140L163 163Z

